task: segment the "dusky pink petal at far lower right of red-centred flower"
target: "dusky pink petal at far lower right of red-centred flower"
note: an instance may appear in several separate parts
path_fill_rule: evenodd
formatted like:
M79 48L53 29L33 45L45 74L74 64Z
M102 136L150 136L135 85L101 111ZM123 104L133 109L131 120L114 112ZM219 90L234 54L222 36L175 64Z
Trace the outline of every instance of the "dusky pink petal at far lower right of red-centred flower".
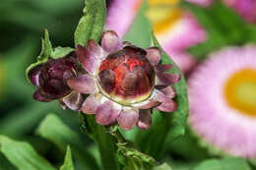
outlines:
M158 100L161 104L157 107L157 110L160 110L161 112L174 112L177 109L177 103L161 92L158 94Z

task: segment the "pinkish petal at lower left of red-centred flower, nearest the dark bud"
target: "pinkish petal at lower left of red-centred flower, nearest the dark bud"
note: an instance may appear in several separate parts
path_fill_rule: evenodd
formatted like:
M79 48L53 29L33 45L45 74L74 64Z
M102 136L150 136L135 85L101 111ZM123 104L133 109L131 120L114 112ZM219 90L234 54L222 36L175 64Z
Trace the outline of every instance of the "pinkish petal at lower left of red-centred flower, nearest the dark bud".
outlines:
M96 108L100 104L99 93L91 94L87 97L86 101L82 105L82 112L86 114L96 114Z

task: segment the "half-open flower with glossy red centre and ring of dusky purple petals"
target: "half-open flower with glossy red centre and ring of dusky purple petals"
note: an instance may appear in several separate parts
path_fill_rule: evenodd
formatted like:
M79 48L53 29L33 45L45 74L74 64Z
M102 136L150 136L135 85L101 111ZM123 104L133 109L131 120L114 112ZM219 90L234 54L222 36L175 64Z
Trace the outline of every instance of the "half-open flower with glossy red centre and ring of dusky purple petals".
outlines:
M90 94L82 112L96 114L96 122L108 126L116 121L124 130L135 125L148 129L152 108L163 112L176 110L172 84L180 75L165 73L172 65L160 65L160 49L146 50L121 43L117 33L105 31L101 46L89 40L78 46L77 56L88 74L68 81L68 85Z

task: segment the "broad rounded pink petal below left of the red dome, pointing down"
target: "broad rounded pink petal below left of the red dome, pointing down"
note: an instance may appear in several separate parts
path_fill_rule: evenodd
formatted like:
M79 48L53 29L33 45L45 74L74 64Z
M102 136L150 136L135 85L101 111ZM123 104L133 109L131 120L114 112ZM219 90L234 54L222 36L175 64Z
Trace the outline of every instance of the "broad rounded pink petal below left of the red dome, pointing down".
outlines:
M104 126L115 122L121 109L119 104L116 104L111 100L105 101L96 108L96 122Z

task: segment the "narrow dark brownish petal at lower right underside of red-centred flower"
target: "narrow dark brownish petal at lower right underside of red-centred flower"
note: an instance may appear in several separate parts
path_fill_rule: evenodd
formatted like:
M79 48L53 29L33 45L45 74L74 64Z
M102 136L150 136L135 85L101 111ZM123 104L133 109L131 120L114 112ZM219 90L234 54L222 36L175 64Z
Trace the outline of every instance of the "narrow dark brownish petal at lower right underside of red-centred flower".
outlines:
M137 123L137 126L140 129L146 130L146 129L149 129L151 127L151 124L152 124L151 113L152 113L151 109L146 109L146 110L141 109L140 110L140 112L139 112L139 121Z

